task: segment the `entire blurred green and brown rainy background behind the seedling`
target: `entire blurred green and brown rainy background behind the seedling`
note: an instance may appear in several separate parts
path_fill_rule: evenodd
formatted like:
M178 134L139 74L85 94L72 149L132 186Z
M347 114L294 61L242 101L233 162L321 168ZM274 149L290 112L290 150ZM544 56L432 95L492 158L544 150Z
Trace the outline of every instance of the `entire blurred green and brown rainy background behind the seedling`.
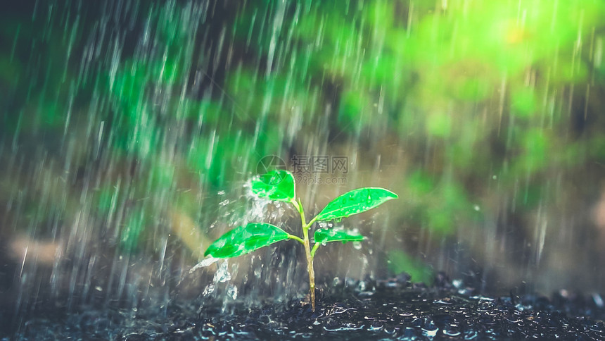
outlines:
M46 259L68 283L166 285L253 217L263 157L343 156L346 173L298 182L307 211L362 186L400 199L343 221L371 239L318 254L325 283L445 271L491 292L603 292L604 39L597 0L13 5L1 247L27 258L25 242L25 271ZM254 214L291 221L269 211ZM125 267L139 275L99 275Z

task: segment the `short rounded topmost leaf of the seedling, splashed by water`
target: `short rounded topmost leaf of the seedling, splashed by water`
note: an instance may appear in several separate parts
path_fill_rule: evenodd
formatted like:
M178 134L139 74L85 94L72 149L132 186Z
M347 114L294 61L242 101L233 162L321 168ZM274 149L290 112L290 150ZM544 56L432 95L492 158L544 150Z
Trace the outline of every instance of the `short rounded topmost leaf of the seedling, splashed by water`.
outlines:
M279 202L291 202L295 197L294 176L284 170L270 171L252 180L252 192Z

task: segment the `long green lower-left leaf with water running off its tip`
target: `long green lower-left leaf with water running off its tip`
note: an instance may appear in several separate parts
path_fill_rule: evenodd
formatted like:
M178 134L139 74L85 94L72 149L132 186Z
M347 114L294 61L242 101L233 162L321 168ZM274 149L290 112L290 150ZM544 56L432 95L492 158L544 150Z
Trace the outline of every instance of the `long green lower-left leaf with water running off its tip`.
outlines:
M231 258L253 252L274 242L288 239L288 233L275 225L267 223L249 223L225 233L215 240L204 256Z

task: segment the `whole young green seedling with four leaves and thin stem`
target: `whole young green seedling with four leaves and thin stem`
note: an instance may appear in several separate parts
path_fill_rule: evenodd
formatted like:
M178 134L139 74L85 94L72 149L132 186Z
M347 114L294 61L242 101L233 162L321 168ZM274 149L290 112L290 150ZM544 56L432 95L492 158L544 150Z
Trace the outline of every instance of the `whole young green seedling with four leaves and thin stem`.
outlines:
M288 171L270 171L265 175L257 176L252 180L252 192L258 197L270 200L288 202L300 213L300 222L303 226L303 237L291 235L286 231L269 223L248 223L225 233L215 240L204 256L215 258L231 258L247 254L255 249L266 247L282 240L295 240L303 244L307 256L307 271L309 272L310 302L315 310L315 271L313 259L317 249L328 242L359 242L364 236L351 230L333 230L319 228L314 233L314 244L311 247L309 230L317 221L331 221L362 213L386 202L397 199L397 194L377 187L364 187L352 190L333 199L317 216L307 223L303 204L296 199L295 181L292 173Z

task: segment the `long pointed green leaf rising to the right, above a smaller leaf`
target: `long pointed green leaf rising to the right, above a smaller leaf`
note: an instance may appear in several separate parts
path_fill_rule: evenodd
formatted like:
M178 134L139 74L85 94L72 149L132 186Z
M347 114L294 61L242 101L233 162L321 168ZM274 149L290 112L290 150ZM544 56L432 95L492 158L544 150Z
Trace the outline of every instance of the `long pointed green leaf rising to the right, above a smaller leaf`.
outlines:
M374 209L374 207L390 199L397 199L397 194L384 188L358 188L333 199L321 210L316 220L329 221L331 219L352 216L353 214Z

